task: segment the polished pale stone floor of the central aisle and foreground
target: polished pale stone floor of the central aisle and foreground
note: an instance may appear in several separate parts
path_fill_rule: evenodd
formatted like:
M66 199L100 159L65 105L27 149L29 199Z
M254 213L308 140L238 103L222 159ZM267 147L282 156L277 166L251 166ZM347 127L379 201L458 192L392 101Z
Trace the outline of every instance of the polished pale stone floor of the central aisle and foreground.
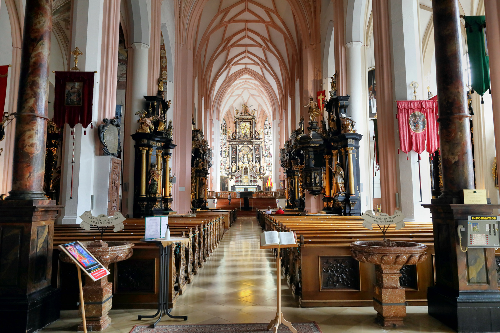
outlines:
M259 250L261 230L255 218L240 217L210 256L186 293L177 299L172 315L187 316L188 321L163 317L159 325L265 323L276 311L275 259L270 250ZM424 333L454 332L427 314L426 307L407 307L406 326L386 330L374 323L372 307L299 308L298 298L281 280L282 312L291 322L316 321L323 333ZM112 324L104 332L129 333L134 325L153 320L137 320L137 315L152 315L155 310L111 310ZM43 333L75 332L81 322L76 311L62 311L61 319Z

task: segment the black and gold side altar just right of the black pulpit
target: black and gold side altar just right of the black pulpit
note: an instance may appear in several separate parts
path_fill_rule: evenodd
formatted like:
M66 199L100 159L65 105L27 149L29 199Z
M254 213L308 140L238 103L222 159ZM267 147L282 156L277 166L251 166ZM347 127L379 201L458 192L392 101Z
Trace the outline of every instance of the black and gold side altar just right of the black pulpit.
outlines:
M323 211L342 216L360 216L359 140L362 134L347 108L350 96L333 96L325 104L328 129L325 144Z

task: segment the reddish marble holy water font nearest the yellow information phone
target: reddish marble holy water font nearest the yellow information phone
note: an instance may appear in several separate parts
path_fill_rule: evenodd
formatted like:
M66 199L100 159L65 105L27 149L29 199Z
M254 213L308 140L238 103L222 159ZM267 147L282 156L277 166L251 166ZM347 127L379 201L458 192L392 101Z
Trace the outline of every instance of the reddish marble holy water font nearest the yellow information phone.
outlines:
M427 247L420 243L383 241L360 241L350 245L351 255L357 261L375 265L373 308L376 321L383 327L404 326L406 317L406 294L399 286L404 265L416 265L427 258Z

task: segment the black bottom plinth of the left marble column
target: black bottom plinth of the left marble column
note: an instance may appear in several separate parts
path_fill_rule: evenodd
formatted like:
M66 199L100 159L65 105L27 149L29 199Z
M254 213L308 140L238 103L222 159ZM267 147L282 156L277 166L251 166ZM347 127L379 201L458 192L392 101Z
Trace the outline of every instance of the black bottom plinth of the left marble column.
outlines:
M59 319L60 294L49 286L27 296L1 296L0 322L9 333L31 333Z

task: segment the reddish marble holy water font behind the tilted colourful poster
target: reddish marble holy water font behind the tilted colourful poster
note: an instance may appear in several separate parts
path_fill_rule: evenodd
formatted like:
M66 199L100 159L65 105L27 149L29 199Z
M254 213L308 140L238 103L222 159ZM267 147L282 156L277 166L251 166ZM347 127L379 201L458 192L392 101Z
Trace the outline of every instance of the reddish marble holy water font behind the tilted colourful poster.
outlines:
M81 242L81 244L97 259L105 269L110 263L116 263L132 256L132 242L125 241L94 241ZM60 260L65 263L73 263L66 254L59 255ZM76 268L75 268L76 269ZM85 275L85 286L83 287L83 302L85 304L85 322L87 331L104 331L111 318L107 315L111 310L111 299L113 284L107 281L107 277L93 281ZM81 316L81 307L78 307ZM78 326L78 331L83 331L83 324Z

